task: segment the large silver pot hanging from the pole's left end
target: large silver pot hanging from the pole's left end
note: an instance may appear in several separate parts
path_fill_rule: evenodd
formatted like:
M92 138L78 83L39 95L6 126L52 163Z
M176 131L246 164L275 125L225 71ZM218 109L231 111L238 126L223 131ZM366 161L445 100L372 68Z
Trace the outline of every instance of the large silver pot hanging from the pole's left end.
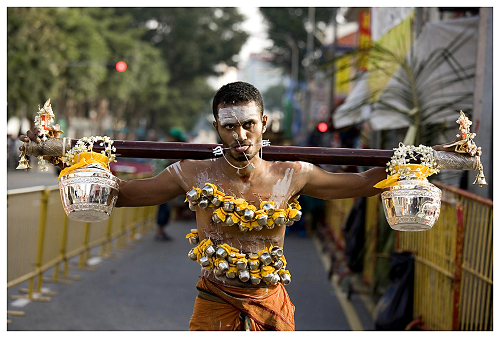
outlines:
M68 218L100 222L111 215L118 198L118 178L106 167L91 163L59 178L62 206Z

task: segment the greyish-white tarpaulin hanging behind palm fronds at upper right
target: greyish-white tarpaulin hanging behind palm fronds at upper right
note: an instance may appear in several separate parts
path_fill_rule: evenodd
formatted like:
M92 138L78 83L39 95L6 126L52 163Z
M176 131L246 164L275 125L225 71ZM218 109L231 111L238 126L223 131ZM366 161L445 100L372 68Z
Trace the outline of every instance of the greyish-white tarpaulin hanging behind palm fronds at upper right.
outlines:
M433 123L444 120L454 121L460 110L472 108L474 91L474 78L467 78L456 82L457 74L466 77L475 72L475 58L477 48L478 17L459 18L446 21L428 22L413 44L407 59L412 55L413 60L408 64L422 65L430 55L439 53L433 61L423 66L422 74L417 77L419 90L420 110L426 118ZM452 49L445 48L452 41ZM445 57L443 58L442 55ZM442 60L445 62L441 62ZM415 71L417 67L413 66ZM435 68L435 69L434 69ZM428 69L432 69L428 72ZM427 71L428 73L425 73ZM402 89L410 90L397 78L403 77L403 69L396 71L382 91L379 102L371 105L371 112L366 117L366 111L361 112L361 107L355 106L360 102L360 97L367 95L367 83L356 83L351 93L347 96L333 114L335 127L347 126L369 120L374 130L396 129L409 125L409 120L395 110L409 111L412 103L401 99ZM366 82L364 79L361 82ZM398 94L399 93L399 94ZM465 93L469 93L466 96ZM409 106L411 105L411 106ZM366 108L363 108L366 109ZM365 117L362 119L361 116ZM350 121L349 121L350 119Z

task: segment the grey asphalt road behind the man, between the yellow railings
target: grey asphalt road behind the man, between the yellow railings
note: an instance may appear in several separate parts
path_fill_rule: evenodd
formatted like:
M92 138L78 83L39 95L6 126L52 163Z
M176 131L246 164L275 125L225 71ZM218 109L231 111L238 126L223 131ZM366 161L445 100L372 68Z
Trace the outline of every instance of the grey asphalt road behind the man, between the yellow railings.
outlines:
M36 185L57 184L55 173L7 172L8 189L29 185L31 180ZM19 288L27 287L27 282L11 287L7 310L25 315L8 315L7 330L187 330L200 272L187 257L192 246L185 234L192 227L194 221L173 221L166 228L172 240L155 241L151 231L130 243L129 250L115 251L115 257L102 261L94 249L89 262L97 263L94 271L70 272L81 280L71 285L43 283L43 291L56 292L48 302L13 300L10 296L21 294ZM361 296L353 294L347 300L328 280L313 238L290 232L284 248L292 276L286 289L296 306L296 330L373 329Z

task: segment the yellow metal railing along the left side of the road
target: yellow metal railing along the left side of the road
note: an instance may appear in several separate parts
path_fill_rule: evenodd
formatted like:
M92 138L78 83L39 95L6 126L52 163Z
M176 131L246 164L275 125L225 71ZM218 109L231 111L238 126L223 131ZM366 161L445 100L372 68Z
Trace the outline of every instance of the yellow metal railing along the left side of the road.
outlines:
M28 288L20 289L26 295L11 297L49 301L42 294L43 281L70 283L71 279L78 279L68 274L71 258L78 256L77 267L82 269L94 247L100 245L100 256L109 256L113 248L124 247L153 228L155 213L156 206L121 207L114 208L108 220L82 223L67 218L57 185L8 190L7 289L28 281ZM53 275L44 278L44 272L50 268Z

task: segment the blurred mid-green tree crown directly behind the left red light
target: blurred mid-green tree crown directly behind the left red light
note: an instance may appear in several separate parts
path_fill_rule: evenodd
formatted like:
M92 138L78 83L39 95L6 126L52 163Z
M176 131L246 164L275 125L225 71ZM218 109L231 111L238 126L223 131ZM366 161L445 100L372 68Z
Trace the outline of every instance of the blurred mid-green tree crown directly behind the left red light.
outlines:
M141 39L142 29L130 26L130 14L114 14L114 8L88 8L98 21L99 30L111 52L105 80L99 85L99 99L108 99L115 121L124 119L137 126L139 118L153 123L154 111L167 104L169 71L161 52ZM118 72L117 61L125 61L127 69Z

